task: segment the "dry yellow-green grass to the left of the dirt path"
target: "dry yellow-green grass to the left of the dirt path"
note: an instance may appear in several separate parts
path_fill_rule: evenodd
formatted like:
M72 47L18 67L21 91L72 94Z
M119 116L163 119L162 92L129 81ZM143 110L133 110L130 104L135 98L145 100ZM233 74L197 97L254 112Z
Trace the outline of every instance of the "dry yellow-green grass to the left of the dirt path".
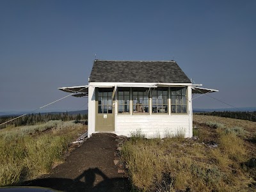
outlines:
M1 130L0 186L15 185L49 172L53 164L63 161L68 141L85 131L84 128L72 122L50 121ZM42 134L46 130L49 131Z

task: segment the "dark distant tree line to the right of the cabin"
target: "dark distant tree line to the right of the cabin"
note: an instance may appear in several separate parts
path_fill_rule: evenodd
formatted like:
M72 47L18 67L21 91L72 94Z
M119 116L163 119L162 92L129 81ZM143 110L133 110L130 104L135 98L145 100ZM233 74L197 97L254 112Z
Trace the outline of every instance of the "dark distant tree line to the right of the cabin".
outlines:
M256 111L246 112L246 111L213 111L206 113L196 113L196 115L211 115L211 116L222 116L228 118L237 118L241 120L248 120L251 122L256 122Z

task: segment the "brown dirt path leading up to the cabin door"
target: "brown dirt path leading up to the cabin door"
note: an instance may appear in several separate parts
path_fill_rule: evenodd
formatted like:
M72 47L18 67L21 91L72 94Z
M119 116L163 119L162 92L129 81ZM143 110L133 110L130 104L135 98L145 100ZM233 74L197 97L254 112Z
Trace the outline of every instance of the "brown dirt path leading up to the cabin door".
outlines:
M130 191L129 180L117 172L113 163L115 134L93 134L72 151L65 163L49 175L29 180L24 186L41 186L60 191Z

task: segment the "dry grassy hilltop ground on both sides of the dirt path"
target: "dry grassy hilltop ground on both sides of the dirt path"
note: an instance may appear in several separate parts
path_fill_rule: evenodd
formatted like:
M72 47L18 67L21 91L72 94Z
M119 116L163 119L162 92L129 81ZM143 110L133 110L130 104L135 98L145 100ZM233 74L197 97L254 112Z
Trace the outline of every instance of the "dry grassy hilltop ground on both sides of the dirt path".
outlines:
M120 154L132 189L255 191L256 122L204 115L194 115L193 120L193 139L184 139L182 132L150 140L143 132L132 133ZM67 144L86 128L74 121L51 120L1 129L0 186L19 185L50 172L64 161Z

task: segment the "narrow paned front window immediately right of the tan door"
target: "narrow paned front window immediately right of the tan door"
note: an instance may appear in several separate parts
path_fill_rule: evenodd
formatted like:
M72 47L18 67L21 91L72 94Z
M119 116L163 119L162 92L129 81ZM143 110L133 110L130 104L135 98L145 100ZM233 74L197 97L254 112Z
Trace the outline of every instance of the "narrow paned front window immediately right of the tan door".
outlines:
M130 113L130 88L118 88L118 113Z

